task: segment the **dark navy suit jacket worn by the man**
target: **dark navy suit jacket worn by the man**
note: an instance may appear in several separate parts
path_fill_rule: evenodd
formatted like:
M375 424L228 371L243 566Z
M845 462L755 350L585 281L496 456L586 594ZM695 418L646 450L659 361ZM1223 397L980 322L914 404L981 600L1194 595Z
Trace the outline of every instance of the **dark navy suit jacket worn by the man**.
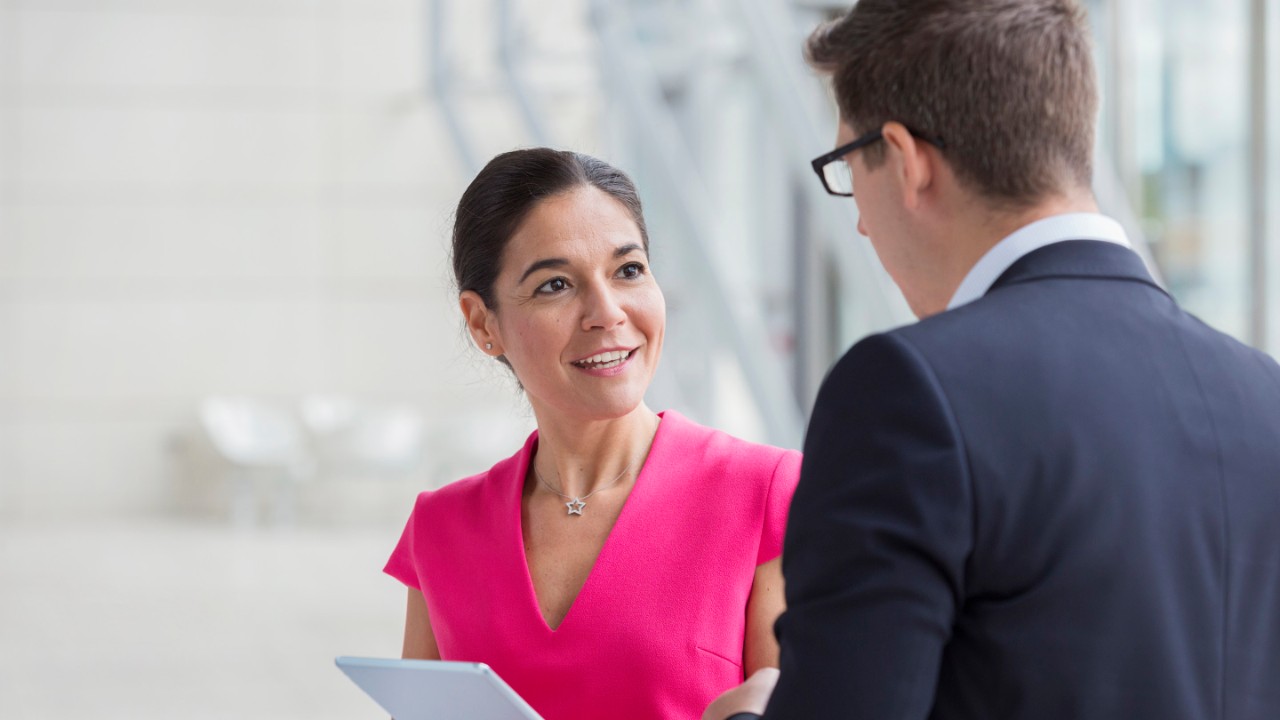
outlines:
M768 720L1280 719L1280 368L1068 241L826 379Z

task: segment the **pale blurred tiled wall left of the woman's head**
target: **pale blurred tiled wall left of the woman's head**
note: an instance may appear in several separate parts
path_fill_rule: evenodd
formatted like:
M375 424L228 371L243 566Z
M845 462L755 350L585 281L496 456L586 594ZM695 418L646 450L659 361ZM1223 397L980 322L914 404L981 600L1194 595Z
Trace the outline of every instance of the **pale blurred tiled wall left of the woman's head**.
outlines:
M0 520L168 509L207 393L518 418L448 287L424 12L0 0Z

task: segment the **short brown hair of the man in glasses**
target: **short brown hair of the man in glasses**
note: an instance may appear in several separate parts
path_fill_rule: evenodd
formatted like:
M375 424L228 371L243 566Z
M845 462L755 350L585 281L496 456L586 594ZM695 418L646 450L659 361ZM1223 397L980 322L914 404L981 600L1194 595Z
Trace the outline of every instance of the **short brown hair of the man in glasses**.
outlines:
M805 53L850 128L941 138L960 182L998 205L1091 184L1098 100L1074 0L859 0ZM884 146L863 152L874 168Z

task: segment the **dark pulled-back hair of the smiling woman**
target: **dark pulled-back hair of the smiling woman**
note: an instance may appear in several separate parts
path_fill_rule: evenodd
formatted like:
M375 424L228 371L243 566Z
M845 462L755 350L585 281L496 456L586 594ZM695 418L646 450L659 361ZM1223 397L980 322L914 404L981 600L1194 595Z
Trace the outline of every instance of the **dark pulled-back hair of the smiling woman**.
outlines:
M458 292L474 291L486 306L497 307L493 284L507 242L539 202L582 186L609 193L631 213L648 252L649 233L640 196L626 173L580 152L548 147L512 150L489 160L458 201L453 222L453 277Z

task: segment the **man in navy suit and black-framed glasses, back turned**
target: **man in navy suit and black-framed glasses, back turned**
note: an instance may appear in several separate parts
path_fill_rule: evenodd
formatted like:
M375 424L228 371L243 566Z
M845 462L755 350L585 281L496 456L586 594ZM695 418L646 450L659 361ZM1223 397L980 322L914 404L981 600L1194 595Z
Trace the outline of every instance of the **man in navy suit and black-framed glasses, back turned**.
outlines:
M922 320L823 384L781 675L704 717L1280 717L1280 368L1097 214L1083 10L861 0L808 54Z

